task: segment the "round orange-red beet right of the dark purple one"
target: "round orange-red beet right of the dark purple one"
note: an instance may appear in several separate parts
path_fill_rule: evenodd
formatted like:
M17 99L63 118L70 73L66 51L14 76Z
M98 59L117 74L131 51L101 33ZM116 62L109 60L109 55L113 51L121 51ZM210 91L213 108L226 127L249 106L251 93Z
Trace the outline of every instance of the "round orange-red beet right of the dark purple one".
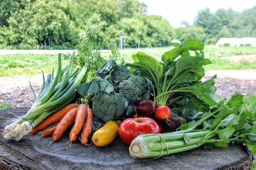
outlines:
M159 122L166 122L167 124L169 124L169 122L171 122L171 117L171 109L164 105L160 105L159 107L157 107L154 112L154 118Z

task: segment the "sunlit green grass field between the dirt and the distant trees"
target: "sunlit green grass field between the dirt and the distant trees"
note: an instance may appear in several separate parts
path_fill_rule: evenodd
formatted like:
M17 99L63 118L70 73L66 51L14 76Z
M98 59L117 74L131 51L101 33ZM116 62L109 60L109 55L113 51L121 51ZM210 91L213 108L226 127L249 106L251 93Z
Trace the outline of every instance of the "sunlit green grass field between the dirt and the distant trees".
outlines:
M170 47L162 48L140 48L140 51L155 57L160 61L162 54L169 51ZM122 57L126 62L133 62L132 55L137 53L137 49L127 49L133 51L122 52ZM231 62L221 59L222 56L233 56L242 54L256 54L256 47L212 47L204 48L204 56L211 60L212 64L206 65L206 70L231 70L231 69L255 69L256 62ZM103 57L110 55L102 53ZM66 62L66 60L62 60ZM45 74L51 73L52 68L57 68L58 54L7 54L0 55L0 76L38 75L41 71Z

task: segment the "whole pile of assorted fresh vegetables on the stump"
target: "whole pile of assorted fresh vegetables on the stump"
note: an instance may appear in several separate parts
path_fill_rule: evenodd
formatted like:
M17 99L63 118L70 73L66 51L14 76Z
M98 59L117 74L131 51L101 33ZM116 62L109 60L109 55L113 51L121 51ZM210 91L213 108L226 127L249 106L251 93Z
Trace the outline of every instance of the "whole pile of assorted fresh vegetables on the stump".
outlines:
M215 100L216 75L206 81L204 43L184 40L162 55L161 61L138 52L133 63L113 48L101 57L93 33L77 46L78 54L59 56L55 78L49 74L29 112L6 126L4 137L26 134L61 138L67 143L111 144L119 135L135 158L158 158L197 147L245 144L256 154L256 113L242 108L243 96ZM65 72L66 70L66 72ZM44 76L43 76L44 77ZM80 135L80 136L79 136Z

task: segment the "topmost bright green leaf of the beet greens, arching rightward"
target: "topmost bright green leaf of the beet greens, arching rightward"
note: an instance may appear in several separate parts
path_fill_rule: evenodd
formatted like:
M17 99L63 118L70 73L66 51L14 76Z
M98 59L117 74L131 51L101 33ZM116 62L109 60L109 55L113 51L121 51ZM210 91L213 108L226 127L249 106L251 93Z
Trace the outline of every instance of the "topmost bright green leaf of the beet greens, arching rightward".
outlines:
M169 64L169 62L174 61L178 56L180 56L182 53L186 51L196 51L196 50L203 50L204 49L204 43L200 40L196 39L188 39L181 42L177 48L173 48L170 51L165 52L162 55L162 61L165 64Z

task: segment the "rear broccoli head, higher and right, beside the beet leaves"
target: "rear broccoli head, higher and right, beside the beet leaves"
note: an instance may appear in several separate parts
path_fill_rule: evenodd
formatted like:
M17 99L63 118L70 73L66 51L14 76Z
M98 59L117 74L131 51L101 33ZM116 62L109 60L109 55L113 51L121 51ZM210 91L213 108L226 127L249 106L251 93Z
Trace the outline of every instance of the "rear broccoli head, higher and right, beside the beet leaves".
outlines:
M137 102L143 97L149 98L148 81L132 74L128 79L119 83L118 92L124 94L129 102ZM148 92L147 97L144 96L145 92Z

